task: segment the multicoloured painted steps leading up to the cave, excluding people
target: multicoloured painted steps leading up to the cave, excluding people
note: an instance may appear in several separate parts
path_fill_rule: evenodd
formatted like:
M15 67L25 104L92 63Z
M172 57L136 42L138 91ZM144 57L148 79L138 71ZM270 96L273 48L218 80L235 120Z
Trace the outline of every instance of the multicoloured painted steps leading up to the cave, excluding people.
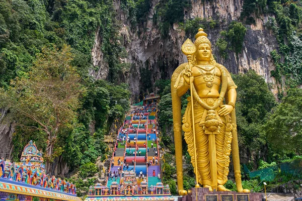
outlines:
M134 170L136 172L136 181L137 184L140 185L140 182L143 179L139 179L139 172L142 171L144 178L146 178L148 182L148 186L155 186L158 182L161 182L161 179L158 178L158 173L161 174L161 167L160 167L160 161L158 164L153 164L152 166L147 167L146 161L152 160L154 158L158 158L158 155L156 155L156 151L159 152L158 149L158 136L157 132L154 132L154 130L157 131L156 128L156 112L157 109L155 107L149 107L144 108L144 110L140 111L140 114L134 114L131 116L127 116L126 120L124 121L124 125L127 124L130 128L127 129L127 133L125 134L126 138L129 137L130 143L125 142L124 145L122 145L119 142L119 145L116 149L114 159L114 165L110 166L109 171L118 171L118 168L121 167L121 164L117 164L117 160L120 158L121 162L124 163L124 156L126 157L125 164L128 164L128 169L124 170ZM144 115L144 117L143 117ZM132 118L133 116L133 118ZM119 136L122 138L124 134L122 133L122 128L120 129ZM136 142L134 141L134 138L136 139ZM151 143L153 143L153 147L151 146ZM147 151L147 148L149 148L149 151ZM131 154L130 154L131 150ZM137 153L136 153L137 151ZM139 154L140 152L140 154ZM145 161L146 157L146 161ZM132 164L132 160L134 160L134 163ZM160 159L159 159L160 160ZM153 170L155 170L155 176L153 176ZM121 176L121 175L120 175ZM161 174L162 178L162 174ZM116 182L120 183L120 177L117 178ZM107 186L110 187L111 183L115 181L115 178L113 180L108 179L107 180Z

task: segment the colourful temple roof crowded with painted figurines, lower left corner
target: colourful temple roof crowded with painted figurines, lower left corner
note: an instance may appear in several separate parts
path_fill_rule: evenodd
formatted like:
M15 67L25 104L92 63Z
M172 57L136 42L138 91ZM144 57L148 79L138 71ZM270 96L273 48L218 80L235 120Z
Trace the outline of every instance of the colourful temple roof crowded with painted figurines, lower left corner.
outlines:
M25 146L20 161L12 163L3 157L0 160L1 201L31 201L33 197L41 201L81 200L74 184L45 172L42 152L32 141Z

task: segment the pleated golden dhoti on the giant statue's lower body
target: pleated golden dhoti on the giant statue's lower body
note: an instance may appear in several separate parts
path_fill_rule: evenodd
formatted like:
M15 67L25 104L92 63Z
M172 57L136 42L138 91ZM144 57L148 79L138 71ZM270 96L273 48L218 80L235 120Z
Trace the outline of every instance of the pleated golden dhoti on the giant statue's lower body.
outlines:
M215 103L217 98L203 98L205 103ZM226 129L226 118L219 117L217 112L219 107L214 110L216 121L218 123L215 131L209 131L206 126L206 117L208 110L194 103L195 117L195 137L198 161L198 180L202 185L208 185L217 189L217 185L223 185L228 180L231 141L232 141L232 125L229 122L229 128ZM214 104L213 104L214 105ZM209 105L212 106L212 105ZM229 120L230 121L230 120ZM183 130L185 131L185 140L188 144L188 152L191 156L191 162L194 166L194 149L192 146L192 117L191 102L188 103L185 115L183 117ZM228 156L226 156L228 155ZM215 171L215 172L213 172ZM195 174L196 171L194 170Z

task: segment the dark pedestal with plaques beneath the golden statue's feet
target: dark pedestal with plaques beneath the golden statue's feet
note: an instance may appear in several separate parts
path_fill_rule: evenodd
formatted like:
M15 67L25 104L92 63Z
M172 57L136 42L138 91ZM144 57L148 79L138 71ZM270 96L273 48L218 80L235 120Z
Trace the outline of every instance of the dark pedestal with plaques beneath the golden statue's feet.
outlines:
M197 199L196 199L197 190ZM208 188L192 188L192 194L179 197L178 201L261 201L262 194L258 192L216 191Z

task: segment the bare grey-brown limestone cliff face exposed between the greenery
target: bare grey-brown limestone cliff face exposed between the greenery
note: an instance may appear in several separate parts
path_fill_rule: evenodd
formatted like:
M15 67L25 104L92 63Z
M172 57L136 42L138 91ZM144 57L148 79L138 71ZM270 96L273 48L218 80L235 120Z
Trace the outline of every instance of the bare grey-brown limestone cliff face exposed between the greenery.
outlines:
M159 26L154 24L153 18L155 17L157 3L158 1L152 1L148 12L148 20L143 27L131 28L130 20L127 19L125 12L121 9L120 1L114 1L118 20L122 23L120 35L124 39L123 45L128 53L126 62L131 63L130 73L122 76L124 81L129 82L133 95L132 99L144 90L141 86L144 86L146 82L150 82L150 85L154 86L153 84L157 79L170 79L174 69L179 64L186 62L186 58L181 52L181 45L186 39L184 31L178 29L178 24L174 24L173 28L169 30L169 36L163 38ZM276 88L274 87L275 80L270 76L270 71L274 69L270 52L277 49L277 41L276 37L263 26L268 16L261 16L261 19L255 18L256 26L246 26L247 33L242 52L238 56L234 52L228 52L228 59L223 59L219 57L215 43L220 37L220 31L226 30L233 20L239 20L243 0L210 2L192 0L191 5L192 9L185 11L186 19L199 17L215 19L219 22L218 28L207 31L208 38L212 43L213 54L216 56L218 63L224 65L232 73L244 73L249 69L254 69L268 83L272 83L273 88ZM98 31L96 34L92 55L94 65L99 66L99 70L91 70L90 74L96 78L105 78L109 72L108 64L102 60ZM146 72L144 69L148 73L144 73ZM276 93L277 91L273 92Z

